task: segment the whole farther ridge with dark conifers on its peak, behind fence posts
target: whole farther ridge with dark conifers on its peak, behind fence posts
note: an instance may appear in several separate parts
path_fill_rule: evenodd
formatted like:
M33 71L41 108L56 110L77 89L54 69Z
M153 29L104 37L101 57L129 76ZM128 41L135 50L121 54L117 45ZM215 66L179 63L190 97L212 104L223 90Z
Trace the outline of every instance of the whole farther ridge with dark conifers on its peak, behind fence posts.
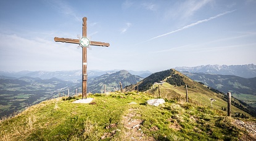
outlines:
M158 97L158 85L154 85L154 83L160 83L160 81L165 82L160 85L160 97L184 100L186 99L186 88L184 85L188 85L189 101L197 102L208 107L213 106L213 109L218 110L227 108L227 102L225 101L226 94L214 93L207 88L207 86L191 80L189 77L186 77L186 75L183 75L174 69L156 72L149 77L144 78L144 80L139 82L139 90ZM137 90L136 85L131 85L126 87L126 91L132 91L134 90L134 87L135 90ZM210 99L215 99L216 101L212 102L211 105ZM244 103L234 99L233 97L231 97L231 101L233 105L231 110L233 116L236 116L238 113L247 116L256 116L254 108L249 105L244 105Z

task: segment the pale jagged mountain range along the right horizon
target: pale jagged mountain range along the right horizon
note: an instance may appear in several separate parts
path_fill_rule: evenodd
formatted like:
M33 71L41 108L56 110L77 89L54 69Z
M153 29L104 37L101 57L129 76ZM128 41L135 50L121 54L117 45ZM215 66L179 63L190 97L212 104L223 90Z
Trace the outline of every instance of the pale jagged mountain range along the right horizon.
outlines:
M176 70L181 72L203 72L207 74L222 74L222 75L236 75L244 78L256 77L256 65L206 65L196 67L175 67Z

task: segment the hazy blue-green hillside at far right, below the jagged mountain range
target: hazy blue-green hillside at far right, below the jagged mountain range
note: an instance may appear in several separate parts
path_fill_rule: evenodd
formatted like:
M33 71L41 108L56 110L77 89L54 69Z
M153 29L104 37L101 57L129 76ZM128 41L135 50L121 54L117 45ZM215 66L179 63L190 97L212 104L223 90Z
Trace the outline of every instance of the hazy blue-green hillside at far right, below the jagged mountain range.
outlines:
M256 77L242 78L235 75L217 75L183 72L196 82L220 91L230 91L234 97L256 108Z

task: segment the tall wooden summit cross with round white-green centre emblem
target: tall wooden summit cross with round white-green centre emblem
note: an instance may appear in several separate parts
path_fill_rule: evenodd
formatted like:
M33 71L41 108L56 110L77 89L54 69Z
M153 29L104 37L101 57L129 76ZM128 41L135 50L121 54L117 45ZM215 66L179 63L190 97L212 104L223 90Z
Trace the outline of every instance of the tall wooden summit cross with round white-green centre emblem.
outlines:
M83 17L83 37L81 37L81 39L68 39L68 38L54 37L54 40L56 42L67 42L67 43L72 43L72 44L80 44L80 46L83 48L82 99L83 99L83 97L85 97L87 99L87 48L89 47L89 45L97 45L97 46L109 47L109 43L90 41L87 38L87 33L86 33L87 32L87 25L86 25L86 21L87 21L87 18Z

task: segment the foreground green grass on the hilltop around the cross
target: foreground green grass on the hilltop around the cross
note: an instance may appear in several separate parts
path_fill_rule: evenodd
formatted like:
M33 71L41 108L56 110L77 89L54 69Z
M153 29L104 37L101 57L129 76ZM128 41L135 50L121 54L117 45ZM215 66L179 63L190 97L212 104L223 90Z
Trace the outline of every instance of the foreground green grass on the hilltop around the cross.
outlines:
M154 140L239 140L246 134L223 112L182 99L165 99L164 105L154 107L145 104L152 94L90 97L92 104L72 103L81 97L59 97L33 105L1 121L1 140L131 140L124 124L124 116L131 113L131 119L142 121L144 137Z

